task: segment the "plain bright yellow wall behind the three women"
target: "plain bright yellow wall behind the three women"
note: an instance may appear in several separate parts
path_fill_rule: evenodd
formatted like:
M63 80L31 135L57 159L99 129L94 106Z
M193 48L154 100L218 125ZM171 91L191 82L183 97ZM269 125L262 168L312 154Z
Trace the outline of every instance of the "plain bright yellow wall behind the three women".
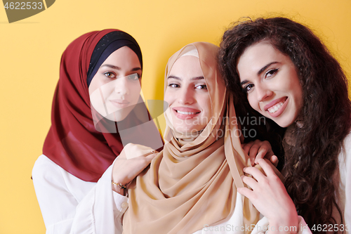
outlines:
M219 44L230 22L265 15L312 27L350 79L350 0L57 0L11 24L1 8L0 233L45 233L30 176L51 124L60 56L72 40L105 28L130 33L143 51L145 98L162 99L169 56L193 41Z

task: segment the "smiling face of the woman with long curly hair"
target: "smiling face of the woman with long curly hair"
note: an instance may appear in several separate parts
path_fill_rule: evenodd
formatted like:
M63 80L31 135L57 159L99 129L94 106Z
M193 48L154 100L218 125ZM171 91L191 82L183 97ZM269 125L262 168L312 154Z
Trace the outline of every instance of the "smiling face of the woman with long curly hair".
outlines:
M293 124L303 105L303 91L289 56L268 42L259 42L246 48L237 70L254 110L279 126Z

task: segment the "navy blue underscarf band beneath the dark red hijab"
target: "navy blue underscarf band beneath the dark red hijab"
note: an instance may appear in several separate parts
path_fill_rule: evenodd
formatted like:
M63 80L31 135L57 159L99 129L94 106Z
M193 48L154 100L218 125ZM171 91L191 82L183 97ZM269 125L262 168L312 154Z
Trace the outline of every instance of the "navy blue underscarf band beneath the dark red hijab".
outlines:
M100 66L108 56L114 51L117 51L123 46L128 46L132 51L138 56L141 69L143 70L143 56L140 51L138 43L135 41L131 35L122 31L114 31L107 33L104 37L100 39L98 44L96 44L93 54L91 55L91 60L89 63L88 73L86 76L86 83L88 86L91 80L98 72Z

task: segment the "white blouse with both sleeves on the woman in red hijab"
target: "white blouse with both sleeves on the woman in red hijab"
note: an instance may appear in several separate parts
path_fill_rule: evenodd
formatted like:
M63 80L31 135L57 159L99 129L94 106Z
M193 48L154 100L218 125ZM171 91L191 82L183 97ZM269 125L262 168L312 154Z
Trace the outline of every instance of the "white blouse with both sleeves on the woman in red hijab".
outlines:
M98 183L72 176L45 155L32 178L46 234L121 233L128 198L112 191L112 166Z

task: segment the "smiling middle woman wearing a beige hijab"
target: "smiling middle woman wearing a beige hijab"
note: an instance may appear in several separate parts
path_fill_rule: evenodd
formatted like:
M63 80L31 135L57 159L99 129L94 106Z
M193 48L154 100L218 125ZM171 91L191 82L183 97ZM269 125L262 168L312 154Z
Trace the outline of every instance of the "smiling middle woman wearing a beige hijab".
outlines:
M256 209L237 195L249 157L241 149L234 106L225 111L217 51L197 42L168 60L166 144L129 186L124 233L195 233L228 221L236 210L232 225L258 221Z

